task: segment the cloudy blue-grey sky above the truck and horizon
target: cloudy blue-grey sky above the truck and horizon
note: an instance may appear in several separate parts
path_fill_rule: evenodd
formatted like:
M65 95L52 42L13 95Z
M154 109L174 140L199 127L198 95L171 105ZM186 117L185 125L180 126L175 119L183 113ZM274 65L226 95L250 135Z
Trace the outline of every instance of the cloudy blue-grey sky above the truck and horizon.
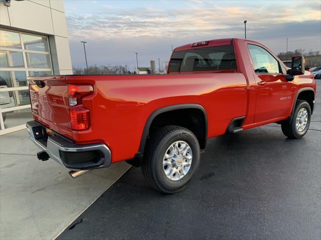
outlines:
M172 44L216 38L260 41L275 53L321 50L320 0L64 0L73 66L148 66L168 61Z

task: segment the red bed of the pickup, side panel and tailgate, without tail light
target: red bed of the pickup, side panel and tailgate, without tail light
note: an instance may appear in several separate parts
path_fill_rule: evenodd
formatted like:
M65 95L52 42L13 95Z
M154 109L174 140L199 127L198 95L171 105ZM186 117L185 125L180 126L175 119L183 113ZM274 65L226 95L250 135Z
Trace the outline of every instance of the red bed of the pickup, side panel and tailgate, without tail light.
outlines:
M112 155L112 162L133 157L149 114L159 107L202 105L208 121L216 122L209 125L207 137L224 134L231 119L246 115L247 109L247 81L242 73L29 78L33 84L37 81L48 87L39 88L38 98L34 98L36 93L30 84L35 120L77 144L103 142L111 152L117 152L116 157ZM89 129L76 131L68 126L67 84L90 84L94 88L92 94L82 99L83 105L90 109ZM127 150L122 151L125 136L131 136L133 144L126 145Z

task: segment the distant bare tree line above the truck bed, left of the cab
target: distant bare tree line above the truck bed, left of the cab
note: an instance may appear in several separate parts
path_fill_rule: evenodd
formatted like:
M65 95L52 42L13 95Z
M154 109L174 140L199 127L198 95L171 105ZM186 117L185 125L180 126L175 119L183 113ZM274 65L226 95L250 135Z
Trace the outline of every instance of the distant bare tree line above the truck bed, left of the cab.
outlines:
M73 67L74 74L132 74L128 71L127 65L106 65L106 66L88 66L88 73L86 67Z

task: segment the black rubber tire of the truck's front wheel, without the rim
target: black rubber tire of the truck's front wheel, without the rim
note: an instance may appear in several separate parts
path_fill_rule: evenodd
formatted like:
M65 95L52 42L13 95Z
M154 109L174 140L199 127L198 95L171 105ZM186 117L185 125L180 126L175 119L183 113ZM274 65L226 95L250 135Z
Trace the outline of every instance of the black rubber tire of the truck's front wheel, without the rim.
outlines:
M298 112L302 108L305 108L307 111L307 123L306 123L306 126L304 127L304 129L299 131L296 128L296 119L297 119ZM307 101L304 101L304 100L297 100L296 104L295 104L295 108L294 108L293 117L292 117L291 122L281 123L282 132L288 138L292 138L292 139L301 138L307 132L307 129L309 128L309 125L310 125L310 121L311 121L311 107L310 107L309 103L307 103Z

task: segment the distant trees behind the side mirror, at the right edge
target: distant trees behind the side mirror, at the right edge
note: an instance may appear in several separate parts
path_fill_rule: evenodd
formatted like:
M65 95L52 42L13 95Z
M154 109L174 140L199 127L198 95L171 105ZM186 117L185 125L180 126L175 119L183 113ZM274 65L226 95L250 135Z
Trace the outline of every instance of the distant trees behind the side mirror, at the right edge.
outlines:
M305 49L299 48L295 49L294 51L280 52L277 56L282 61L290 61L292 56L299 56L303 55L305 58L305 66L306 67L313 67L313 66L321 66L321 55L320 51L312 51L309 50L305 52Z

